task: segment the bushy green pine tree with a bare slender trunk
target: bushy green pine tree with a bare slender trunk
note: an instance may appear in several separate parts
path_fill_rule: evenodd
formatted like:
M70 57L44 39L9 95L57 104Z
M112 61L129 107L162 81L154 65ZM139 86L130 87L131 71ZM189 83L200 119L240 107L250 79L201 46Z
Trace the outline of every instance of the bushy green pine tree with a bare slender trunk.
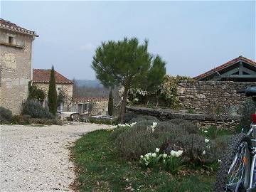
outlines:
M124 38L123 41L117 42L107 41L97 47L92 59L92 68L102 85L124 87L119 114L121 122L124 122L130 88L144 89L148 87L149 82L156 87L156 84L159 85L161 80L164 80L166 63L158 55L152 56L147 49L148 41L139 44L137 38Z

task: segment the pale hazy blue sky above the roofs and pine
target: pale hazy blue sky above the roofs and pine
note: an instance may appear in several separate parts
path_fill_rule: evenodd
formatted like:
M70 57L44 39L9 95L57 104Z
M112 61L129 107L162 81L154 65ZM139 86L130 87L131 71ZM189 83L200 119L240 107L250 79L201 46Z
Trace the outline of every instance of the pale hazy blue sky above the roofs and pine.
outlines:
M1 18L36 31L33 68L95 80L102 41L137 37L169 75L196 76L240 55L255 60L255 1L2 1Z

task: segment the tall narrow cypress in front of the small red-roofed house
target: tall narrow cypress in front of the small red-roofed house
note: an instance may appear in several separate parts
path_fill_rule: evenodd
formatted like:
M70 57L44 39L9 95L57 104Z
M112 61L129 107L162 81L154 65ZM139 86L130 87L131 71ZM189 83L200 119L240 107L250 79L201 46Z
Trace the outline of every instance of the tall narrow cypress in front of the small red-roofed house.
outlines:
M57 90L56 90L56 82L55 82L55 71L53 67L50 71L48 106L49 106L50 113L55 115L57 112Z

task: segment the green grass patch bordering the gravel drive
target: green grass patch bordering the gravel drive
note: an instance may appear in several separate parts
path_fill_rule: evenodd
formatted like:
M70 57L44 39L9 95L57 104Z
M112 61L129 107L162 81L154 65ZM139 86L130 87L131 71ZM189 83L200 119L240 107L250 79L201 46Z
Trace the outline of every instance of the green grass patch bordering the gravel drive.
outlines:
M73 146L80 191L213 191L215 175L172 176L157 169L142 169L139 161L122 159L110 137L99 130L85 134Z

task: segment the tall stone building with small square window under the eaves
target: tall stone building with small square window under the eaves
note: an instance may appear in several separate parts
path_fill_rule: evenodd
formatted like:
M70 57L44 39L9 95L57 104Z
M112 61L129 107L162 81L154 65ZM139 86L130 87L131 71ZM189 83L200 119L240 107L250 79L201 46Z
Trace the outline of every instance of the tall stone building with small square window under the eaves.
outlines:
M34 31L0 18L0 106L14 114L28 97L35 37Z

